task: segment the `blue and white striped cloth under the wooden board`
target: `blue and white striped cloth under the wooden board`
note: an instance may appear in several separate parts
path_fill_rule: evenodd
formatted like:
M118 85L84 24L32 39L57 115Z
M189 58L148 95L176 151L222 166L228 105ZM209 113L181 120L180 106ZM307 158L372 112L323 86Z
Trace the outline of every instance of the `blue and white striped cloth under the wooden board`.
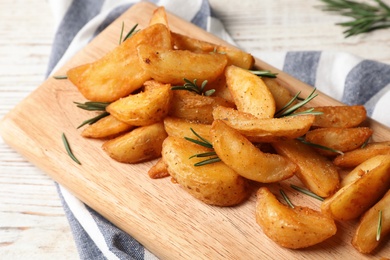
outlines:
M126 11L136 0L51 0L57 33L48 75ZM154 0L172 13L232 42L212 17L207 0ZM246 50L251 52L251 50ZM390 66L348 53L252 52L260 59L346 104L364 104L369 116L390 126ZM141 244L58 186L81 259L156 259Z

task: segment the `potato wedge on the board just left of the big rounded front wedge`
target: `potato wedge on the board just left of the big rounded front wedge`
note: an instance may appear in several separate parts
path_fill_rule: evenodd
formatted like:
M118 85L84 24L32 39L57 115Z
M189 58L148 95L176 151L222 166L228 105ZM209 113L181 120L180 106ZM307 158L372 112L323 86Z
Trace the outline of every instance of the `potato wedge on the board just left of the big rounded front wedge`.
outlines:
M160 157L162 143L167 136L163 123L156 123L111 139L102 148L118 162L139 163Z

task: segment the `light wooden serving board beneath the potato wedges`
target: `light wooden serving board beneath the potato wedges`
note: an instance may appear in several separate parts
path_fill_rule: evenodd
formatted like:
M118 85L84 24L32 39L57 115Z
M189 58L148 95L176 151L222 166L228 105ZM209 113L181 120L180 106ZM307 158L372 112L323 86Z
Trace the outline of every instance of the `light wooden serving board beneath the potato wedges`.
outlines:
M111 24L88 46L64 65L57 75L69 68L91 62L118 44L122 21L144 28L156 7L141 2ZM202 29L169 15L172 31L214 43L226 44ZM310 86L256 60L260 69L278 72L279 81L292 93L303 95ZM389 241L375 256L364 256L350 244L357 221L338 223L337 234L323 243L289 250L268 239L255 221L255 194L236 207L206 205L187 194L170 178L152 180L147 171L152 162L122 164L110 159L101 149L102 141L80 136L77 126L90 114L73 102L85 99L67 80L48 79L36 91L9 112L1 122L4 140L30 162L71 191L84 203L116 226L132 235L160 258L170 259L361 259L390 256ZM320 94L314 105L337 105L339 102ZM369 120L374 140L390 140L388 128ZM82 165L67 155L61 140L65 133L74 154ZM296 205L319 209L319 202L289 188L280 187Z

